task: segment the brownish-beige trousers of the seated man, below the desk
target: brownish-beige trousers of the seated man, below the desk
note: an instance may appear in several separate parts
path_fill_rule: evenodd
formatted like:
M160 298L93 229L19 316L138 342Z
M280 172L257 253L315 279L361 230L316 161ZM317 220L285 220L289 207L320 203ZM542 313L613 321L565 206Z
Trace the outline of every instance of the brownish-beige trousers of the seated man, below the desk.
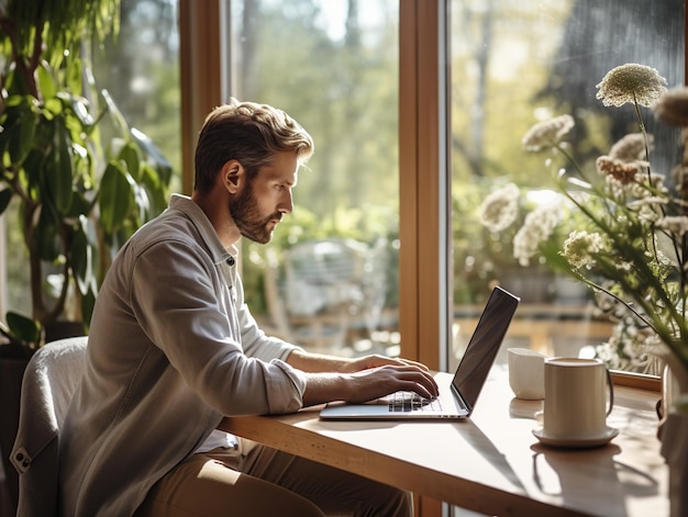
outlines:
M193 454L151 490L135 517L410 517L411 494L256 446Z

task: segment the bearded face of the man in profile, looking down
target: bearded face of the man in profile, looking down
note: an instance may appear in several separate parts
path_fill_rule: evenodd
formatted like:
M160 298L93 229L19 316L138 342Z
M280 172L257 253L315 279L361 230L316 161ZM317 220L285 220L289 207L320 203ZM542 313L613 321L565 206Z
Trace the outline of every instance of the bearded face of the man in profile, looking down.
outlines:
M297 171L296 154L279 153L230 203L230 214L244 237L259 244L270 241L282 215L293 209L291 189Z

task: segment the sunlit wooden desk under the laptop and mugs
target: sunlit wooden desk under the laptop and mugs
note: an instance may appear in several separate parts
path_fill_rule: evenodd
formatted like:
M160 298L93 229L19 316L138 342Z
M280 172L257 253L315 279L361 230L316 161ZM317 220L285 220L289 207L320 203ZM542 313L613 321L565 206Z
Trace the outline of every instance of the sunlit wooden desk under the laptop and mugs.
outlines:
M439 382L450 382L446 373ZM488 515L668 515L656 439L657 392L619 386L607 447L557 450L532 435L537 401L519 401L496 367L466 422L321 422L293 415L225 418L221 428L417 494Z

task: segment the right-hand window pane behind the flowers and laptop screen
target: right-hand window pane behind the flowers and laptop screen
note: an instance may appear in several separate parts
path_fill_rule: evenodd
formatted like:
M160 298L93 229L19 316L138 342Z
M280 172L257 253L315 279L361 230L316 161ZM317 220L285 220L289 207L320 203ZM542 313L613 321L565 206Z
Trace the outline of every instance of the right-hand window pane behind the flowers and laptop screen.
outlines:
M509 346L550 356L598 353L612 368L655 373L646 369L641 348L633 352L637 357L624 358L622 346L596 347L618 328L589 289L555 274L537 255L528 267L514 259L514 236L526 213L558 202L547 155L526 154L521 139L534 123L570 114L576 125L567 135L569 151L595 167L614 142L637 132L633 106L603 106L596 85L626 63L656 68L669 87L683 85L683 0L452 0L450 5L454 357L460 357L490 286L499 283L522 297ZM655 137L653 170L669 170L676 134L644 110ZM480 206L510 182L520 189L519 216L508 229L491 232L480 221Z

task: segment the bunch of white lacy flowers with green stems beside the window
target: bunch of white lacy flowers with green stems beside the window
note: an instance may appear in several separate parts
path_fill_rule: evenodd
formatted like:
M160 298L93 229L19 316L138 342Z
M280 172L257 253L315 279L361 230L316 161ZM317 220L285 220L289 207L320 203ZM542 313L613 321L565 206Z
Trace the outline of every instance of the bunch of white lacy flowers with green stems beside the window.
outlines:
M581 167L569 153L565 138L575 126L570 115L540 122L524 135L525 150L564 157L567 165L558 170L556 184L575 217L562 217L565 203L533 212L533 221L519 231L523 243L517 246L514 240L514 257L528 265L540 252L547 265L606 295L635 323L633 340L654 342L655 348L664 344L670 352L666 358L688 371L688 153L673 171L655 172L650 164L653 138L640 110L653 108L661 122L683 127L686 149L688 88L667 90L657 70L628 64L609 71L597 89L604 105L630 103L635 109L639 132L617 142L593 170ZM547 164L554 160L548 158ZM490 206L504 198L501 189L482 206L484 223L490 222L491 228L510 224L517 202L510 200L510 207L502 211ZM557 225L566 232L555 235ZM562 234L567 237L552 247ZM552 249L556 251L548 252ZM628 317L620 321L623 329L630 327ZM628 331L614 335L608 346L628 351Z

